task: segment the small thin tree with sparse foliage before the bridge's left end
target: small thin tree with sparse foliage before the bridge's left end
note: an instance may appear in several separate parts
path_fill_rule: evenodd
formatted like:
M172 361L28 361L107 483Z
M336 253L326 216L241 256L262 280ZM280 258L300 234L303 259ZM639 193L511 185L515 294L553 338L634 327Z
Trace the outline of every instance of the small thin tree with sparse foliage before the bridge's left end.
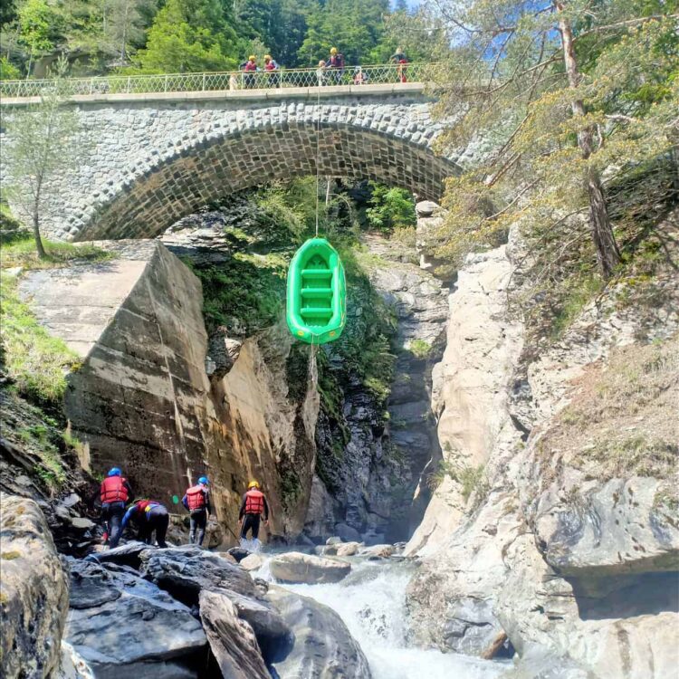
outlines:
M48 212L50 196L46 185L51 177L73 167L86 148L78 114L64 103L63 78L67 62L57 62L53 85L41 100L25 109L16 109L7 120L8 139L3 148L9 176L6 194L9 202L33 226L38 256L46 256L41 226Z

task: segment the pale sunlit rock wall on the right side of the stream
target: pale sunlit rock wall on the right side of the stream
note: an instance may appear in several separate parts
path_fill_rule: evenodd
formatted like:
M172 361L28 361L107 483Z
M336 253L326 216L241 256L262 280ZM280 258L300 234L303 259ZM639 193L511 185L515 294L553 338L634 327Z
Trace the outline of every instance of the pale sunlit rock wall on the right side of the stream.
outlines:
M658 234L675 234L678 216ZM525 253L511 242L468 258L435 391L452 465L408 546L421 557L408 591L419 643L516 651L522 678L674 672L679 281L665 243L667 263L642 291L652 303L630 305L612 285L540 349L509 313L516 290L495 304L487 294L502 289L489 276L509 281ZM458 312L474 289L486 297L474 311L489 314L476 332ZM485 466L465 490L467 460Z

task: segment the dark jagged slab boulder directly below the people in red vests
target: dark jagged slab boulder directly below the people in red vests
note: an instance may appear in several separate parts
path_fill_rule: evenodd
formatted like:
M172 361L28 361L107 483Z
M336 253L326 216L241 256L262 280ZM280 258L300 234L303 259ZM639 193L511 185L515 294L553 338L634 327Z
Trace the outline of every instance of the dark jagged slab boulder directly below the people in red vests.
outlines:
M195 545L148 550L141 559L144 578L187 606L198 603L198 594L204 588L229 589L245 597L255 595L253 579L243 569Z

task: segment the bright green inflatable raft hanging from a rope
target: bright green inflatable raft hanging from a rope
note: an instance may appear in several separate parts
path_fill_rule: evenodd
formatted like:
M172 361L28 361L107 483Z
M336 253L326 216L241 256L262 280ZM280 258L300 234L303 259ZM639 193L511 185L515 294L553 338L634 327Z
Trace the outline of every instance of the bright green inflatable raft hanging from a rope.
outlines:
M347 321L347 282L339 254L325 238L310 238L288 271L288 328L297 339L324 344Z

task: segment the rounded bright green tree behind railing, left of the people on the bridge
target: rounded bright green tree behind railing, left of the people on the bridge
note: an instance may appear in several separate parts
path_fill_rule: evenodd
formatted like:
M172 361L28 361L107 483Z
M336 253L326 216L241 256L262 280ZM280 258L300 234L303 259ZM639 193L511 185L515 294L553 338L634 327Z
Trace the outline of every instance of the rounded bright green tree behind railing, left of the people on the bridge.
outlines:
M167 0L135 58L141 72L229 71L241 43L218 0Z

